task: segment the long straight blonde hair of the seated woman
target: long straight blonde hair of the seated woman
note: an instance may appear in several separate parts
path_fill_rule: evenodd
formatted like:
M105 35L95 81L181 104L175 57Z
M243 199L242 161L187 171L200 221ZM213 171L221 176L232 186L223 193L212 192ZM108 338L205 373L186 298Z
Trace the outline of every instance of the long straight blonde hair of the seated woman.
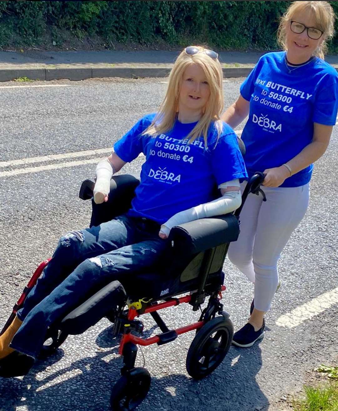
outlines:
M192 143L200 136L204 137L205 146L207 147L207 136L210 123L215 122L218 131L218 137L223 129L221 121L221 113L223 112L223 71L220 62L212 59L204 53L204 47L198 47L201 51L194 55L185 53L185 49L177 57L168 78L168 88L166 96L155 115L152 124L142 133L156 137L159 134L168 132L175 124L176 115L178 112L179 92L182 84L182 76L187 67L193 64L199 65L209 84L210 95L205 105L205 110L195 127L186 136L189 143Z

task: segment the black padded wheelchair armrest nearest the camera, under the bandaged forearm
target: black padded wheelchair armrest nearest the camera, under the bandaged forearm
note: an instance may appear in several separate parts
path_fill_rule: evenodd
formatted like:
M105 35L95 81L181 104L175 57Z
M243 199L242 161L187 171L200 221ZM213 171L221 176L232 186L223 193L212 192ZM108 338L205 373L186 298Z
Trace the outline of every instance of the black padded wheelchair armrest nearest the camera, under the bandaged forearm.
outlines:
M239 236L239 222L233 214L201 218L180 224L170 230L169 240L181 253L197 254L218 245L236 241Z

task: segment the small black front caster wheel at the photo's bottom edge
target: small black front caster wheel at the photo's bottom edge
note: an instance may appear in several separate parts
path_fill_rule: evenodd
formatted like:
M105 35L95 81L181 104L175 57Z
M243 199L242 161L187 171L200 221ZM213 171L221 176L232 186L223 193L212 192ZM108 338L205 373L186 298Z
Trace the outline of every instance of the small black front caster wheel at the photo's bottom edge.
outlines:
M133 368L122 375L112 388L110 406L113 411L131 411L145 399L150 388L149 371Z

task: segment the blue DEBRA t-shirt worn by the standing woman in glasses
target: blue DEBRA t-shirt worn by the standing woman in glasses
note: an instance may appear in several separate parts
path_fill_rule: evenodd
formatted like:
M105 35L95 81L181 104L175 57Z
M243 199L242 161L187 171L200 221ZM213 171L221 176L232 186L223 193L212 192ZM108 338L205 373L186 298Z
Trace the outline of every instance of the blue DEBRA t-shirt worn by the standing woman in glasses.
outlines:
M279 167L313 138L313 123L335 125L338 109L336 69L320 58L300 67L287 66L285 52L263 55L241 85L250 102L242 133L249 177ZM313 165L287 178L281 187L310 181Z

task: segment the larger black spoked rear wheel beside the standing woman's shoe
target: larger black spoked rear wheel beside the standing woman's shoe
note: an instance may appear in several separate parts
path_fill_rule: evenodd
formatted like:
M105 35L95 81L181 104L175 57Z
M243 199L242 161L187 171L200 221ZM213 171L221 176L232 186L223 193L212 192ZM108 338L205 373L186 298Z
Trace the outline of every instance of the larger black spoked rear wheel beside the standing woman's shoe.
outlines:
M186 356L186 370L194 379L209 375L229 351L234 328L223 316L213 318L200 328Z

